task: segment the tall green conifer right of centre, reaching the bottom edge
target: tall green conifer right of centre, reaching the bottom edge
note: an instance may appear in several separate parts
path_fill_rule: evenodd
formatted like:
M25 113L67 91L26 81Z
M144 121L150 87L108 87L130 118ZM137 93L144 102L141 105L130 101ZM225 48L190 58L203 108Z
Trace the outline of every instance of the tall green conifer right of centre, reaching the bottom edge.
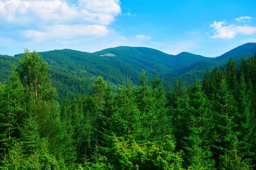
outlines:
M208 170L214 167L211 159L210 144L211 131L214 128L213 119L207 97L202 91L201 81L192 87L191 107L187 121L189 121L188 136L185 136L185 149L189 169Z

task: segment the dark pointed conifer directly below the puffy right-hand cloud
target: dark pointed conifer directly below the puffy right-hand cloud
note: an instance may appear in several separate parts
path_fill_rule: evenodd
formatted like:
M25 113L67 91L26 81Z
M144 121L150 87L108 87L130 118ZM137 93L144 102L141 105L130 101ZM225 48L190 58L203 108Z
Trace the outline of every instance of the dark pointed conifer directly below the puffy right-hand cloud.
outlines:
M220 89L217 92L215 103L215 132L213 132L214 154L215 156L224 155L230 150L232 141L238 142L234 118L238 115L235 99L224 77L221 79Z

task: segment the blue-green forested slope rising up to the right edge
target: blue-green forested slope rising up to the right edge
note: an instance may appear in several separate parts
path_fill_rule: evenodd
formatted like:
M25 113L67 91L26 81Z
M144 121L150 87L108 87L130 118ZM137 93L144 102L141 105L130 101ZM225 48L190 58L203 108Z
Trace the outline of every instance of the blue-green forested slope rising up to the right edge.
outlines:
M195 79L203 79L203 75L206 73L207 69L212 70L215 66L221 68L222 65L225 65L228 62L229 58L235 59L239 64L242 56L244 56L244 58L248 58L249 56L253 56L255 51L256 43L246 43L215 58L208 58L196 56L195 54L185 53L188 55L184 56L183 60L193 60L194 58L201 60L198 62L193 62L190 65L177 68L173 72L169 72L169 74L164 76L165 81L163 83L165 86L168 86L173 84L175 79L178 78L179 80L186 81L191 85ZM173 88L173 86L171 86L171 88Z

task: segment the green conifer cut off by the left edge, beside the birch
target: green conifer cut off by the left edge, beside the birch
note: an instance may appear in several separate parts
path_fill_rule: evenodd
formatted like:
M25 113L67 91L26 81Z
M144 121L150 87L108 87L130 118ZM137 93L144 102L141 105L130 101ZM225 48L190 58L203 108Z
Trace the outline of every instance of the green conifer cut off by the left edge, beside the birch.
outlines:
M23 87L17 72L0 92L0 150L8 152L12 141L19 137L23 113ZM0 151L1 153L1 151Z

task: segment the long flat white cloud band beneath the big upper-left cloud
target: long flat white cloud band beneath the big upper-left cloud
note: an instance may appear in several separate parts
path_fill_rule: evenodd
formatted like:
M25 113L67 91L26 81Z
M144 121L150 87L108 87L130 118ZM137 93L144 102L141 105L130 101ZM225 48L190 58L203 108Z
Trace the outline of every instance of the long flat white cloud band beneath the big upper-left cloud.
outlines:
M27 30L23 31L25 37L39 40L45 39L73 39L79 36L102 37L108 34L106 26L100 25L54 25L48 26L45 31ZM65 44L67 41L58 41Z

